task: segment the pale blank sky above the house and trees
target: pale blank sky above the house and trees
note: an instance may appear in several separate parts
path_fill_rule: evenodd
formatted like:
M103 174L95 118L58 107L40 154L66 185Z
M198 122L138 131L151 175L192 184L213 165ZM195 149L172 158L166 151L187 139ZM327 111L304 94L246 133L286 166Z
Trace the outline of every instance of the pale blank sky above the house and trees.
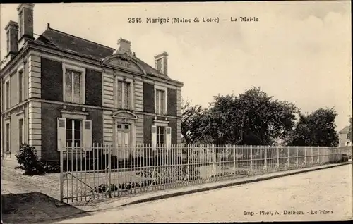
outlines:
M4 28L18 4L1 4ZM135 4L35 4L34 31L50 27L116 48L122 37L151 66L167 51L168 75L184 82L181 97L208 106L215 95L261 87L302 112L335 108L337 130L352 115L350 1ZM256 17L258 22L231 22ZM146 18L219 18L219 23L146 23ZM143 23L128 23L141 18Z

